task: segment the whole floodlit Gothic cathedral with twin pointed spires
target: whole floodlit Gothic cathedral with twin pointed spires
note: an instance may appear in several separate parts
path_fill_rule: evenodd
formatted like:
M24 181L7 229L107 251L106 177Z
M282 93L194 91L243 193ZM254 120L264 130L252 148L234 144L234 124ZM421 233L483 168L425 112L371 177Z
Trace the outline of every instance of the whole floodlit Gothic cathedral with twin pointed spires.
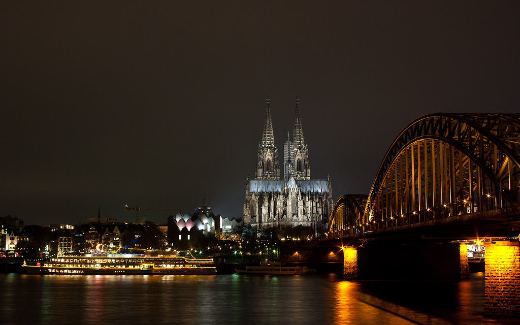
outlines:
M299 101L296 97L293 133L292 137L287 133L280 161L269 98L266 99L255 178L248 178L245 189L244 225L305 226L312 227L317 234L328 222L334 204L330 178L310 178L309 150L303 136Z

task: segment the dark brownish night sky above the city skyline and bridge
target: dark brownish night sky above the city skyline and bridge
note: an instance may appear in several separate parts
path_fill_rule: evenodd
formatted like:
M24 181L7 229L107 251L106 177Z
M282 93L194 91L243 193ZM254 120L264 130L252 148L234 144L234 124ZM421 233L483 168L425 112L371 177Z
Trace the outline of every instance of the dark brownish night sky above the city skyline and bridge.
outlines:
M434 112L518 112L520 2L2 2L0 216L241 217L265 97L311 176L368 193Z

